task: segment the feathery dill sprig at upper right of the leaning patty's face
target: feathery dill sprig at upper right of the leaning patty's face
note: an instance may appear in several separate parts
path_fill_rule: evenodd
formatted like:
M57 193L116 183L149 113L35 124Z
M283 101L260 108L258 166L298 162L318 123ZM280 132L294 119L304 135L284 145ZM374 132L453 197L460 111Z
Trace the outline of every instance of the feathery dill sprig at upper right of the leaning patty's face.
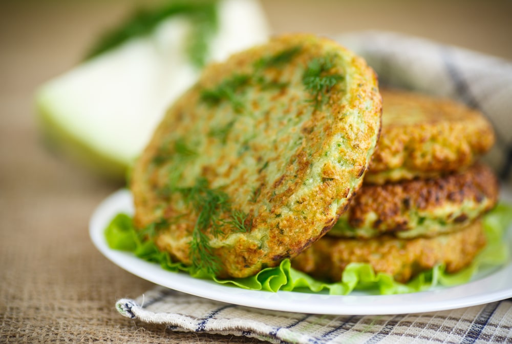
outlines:
M335 55L313 58L307 65L302 76L302 83L306 90L313 96L311 102L315 110L328 102L328 93L344 78L341 74L332 74L330 71L335 66Z

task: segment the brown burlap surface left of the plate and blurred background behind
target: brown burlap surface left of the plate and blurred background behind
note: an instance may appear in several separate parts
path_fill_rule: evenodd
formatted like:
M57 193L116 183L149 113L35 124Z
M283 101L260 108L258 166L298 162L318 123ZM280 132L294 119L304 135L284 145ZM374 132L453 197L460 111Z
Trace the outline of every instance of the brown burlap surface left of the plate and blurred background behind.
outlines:
M139 3L142 3L141 1ZM122 186L42 143L34 90L75 65L134 1L0 4L0 342L259 342L121 317L152 284L93 247L89 217ZM393 30L512 59L510 1L264 0L274 33Z

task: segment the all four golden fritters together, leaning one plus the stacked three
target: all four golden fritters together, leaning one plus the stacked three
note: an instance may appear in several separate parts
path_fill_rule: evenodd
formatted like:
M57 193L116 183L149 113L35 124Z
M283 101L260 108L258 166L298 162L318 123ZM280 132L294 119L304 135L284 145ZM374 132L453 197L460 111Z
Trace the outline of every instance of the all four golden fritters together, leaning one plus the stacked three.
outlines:
M343 47L282 36L208 66L169 108L133 170L134 220L173 260L221 278L286 258L334 281L351 262L402 282L455 272L485 245L498 185L477 159L493 143L477 111L379 94Z

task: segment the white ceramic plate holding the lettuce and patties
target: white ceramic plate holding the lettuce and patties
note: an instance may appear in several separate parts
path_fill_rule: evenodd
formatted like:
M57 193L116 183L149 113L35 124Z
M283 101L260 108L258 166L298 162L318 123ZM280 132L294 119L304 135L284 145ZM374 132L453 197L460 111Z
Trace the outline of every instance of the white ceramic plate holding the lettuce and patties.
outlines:
M117 191L106 198L95 210L90 222L90 235L94 245L114 264L155 284L236 305L314 314L373 315L456 309L512 297L510 261L503 268L475 276L473 281L461 286L401 295L369 295L362 292L353 292L348 296L286 291L272 293L223 286L214 281L190 277L185 273L166 271L159 265L139 259L131 253L110 249L103 231L120 212L133 213L132 196L127 190ZM508 232L511 234L512 231ZM512 248L512 235L508 236L508 244Z

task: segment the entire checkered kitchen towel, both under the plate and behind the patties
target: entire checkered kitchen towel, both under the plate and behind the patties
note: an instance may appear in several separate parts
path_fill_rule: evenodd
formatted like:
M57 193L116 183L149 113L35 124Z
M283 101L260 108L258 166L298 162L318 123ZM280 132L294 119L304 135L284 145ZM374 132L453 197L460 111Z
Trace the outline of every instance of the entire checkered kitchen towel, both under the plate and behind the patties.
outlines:
M512 64L395 33L343 34L337 41L364 56L389 85L461 100L495 126L489 155L503 177L512 166ZM256 337L273 343L512 343L512 299L470 308L389 316L332 316L265 311L157 287L118 311L176 331Z

